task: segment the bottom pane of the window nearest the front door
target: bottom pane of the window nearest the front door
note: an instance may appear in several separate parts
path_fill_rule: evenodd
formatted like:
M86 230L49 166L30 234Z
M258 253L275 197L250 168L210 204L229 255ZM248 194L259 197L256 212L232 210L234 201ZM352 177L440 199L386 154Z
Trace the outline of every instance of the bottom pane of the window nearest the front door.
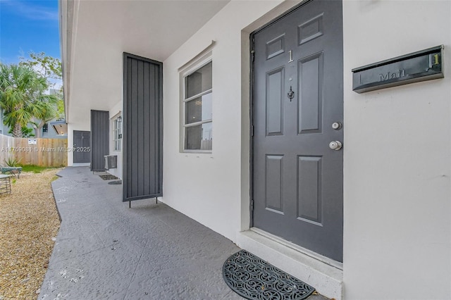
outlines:
M213 144L212 129L212 123L186 127L185 149L211 150Z

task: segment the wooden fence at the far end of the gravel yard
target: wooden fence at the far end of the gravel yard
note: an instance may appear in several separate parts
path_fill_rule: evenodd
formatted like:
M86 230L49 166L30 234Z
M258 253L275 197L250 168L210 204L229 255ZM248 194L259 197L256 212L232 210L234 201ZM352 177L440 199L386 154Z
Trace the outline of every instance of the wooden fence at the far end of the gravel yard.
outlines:
M21 165L61 167L68 163L67 139L14 138L0 135L0 163L16 158Z

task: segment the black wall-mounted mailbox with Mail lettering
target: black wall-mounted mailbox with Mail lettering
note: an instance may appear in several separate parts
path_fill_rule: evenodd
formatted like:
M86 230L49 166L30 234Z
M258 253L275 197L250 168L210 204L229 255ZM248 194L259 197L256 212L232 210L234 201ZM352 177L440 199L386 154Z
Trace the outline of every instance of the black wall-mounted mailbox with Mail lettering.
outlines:
M443 78L443 45L364 65L352 70L357 93Z

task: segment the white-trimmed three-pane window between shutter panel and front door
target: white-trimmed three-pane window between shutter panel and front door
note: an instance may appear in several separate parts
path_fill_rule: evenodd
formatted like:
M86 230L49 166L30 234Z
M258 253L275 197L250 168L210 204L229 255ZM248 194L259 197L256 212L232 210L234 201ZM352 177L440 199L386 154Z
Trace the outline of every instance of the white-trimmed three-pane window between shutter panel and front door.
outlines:
M212 62L183 77L184 151L210 152L213 146Z

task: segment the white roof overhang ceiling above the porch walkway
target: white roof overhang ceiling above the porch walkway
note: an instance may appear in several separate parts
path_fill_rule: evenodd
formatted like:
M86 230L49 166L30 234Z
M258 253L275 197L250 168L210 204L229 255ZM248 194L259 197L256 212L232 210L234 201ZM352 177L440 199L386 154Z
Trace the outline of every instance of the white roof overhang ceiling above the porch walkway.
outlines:
M229 1L59 0L66 122L121 101L123 52L164 61Z

